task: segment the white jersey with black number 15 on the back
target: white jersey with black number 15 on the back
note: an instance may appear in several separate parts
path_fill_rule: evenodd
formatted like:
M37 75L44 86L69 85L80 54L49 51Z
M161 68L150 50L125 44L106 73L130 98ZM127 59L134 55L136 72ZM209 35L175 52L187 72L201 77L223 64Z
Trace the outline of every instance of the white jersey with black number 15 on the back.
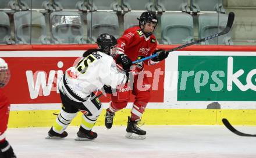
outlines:
M116 86L125 84L126 80L125 72L116 67L111 56L95 51L83 57L76 67L66 70L59 89L69 95L68 91L71 90L73 94L84 99L93 91L101 89L104 84L115 89Z

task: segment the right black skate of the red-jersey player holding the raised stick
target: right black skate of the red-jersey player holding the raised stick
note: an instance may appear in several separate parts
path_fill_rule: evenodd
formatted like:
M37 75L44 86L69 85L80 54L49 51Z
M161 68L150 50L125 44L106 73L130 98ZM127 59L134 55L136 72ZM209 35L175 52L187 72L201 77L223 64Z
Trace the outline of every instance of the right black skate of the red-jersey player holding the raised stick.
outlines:
M128 117L126 131L127 131L127 134L125 135L126 138L129 138L129 139L145 139L146 138L146 131L141 130L141 128L138 127L138 122L132 121L130 117Z

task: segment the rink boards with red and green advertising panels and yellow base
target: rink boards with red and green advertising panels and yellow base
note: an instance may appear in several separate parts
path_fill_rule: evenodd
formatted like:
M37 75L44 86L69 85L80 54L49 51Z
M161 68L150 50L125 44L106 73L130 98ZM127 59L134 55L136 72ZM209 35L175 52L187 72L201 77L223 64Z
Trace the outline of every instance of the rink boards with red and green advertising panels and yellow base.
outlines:
M256 49L205 48L207 51L195 46L172 52L165 62L145 69L153 83L151 100L143 115L145 124L222 124L221 119L226 117L233 124L256 125ZM12 104L9 127L52 125L56 118L52 113L58 113L61 106L56 84L83 52L0 52L12 73L5 88ZM132 97L127 108L117 113L116 125L126 124L133 100ZM101 101L106 108L109 96ZM97 125L104 125L104 114L105 111ZM80 118L77 116L72 125L79 126Z

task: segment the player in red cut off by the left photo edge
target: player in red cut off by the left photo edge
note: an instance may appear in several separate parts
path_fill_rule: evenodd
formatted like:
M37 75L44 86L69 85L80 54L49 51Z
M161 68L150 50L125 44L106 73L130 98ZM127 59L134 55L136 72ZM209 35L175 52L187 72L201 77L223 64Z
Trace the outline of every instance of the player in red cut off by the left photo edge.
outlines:
M8 64L0 58L0 157L15 158L12 146L5 139L5 131L7 129L10 103L8 98L3 93L2 88L6 86L10 79Z

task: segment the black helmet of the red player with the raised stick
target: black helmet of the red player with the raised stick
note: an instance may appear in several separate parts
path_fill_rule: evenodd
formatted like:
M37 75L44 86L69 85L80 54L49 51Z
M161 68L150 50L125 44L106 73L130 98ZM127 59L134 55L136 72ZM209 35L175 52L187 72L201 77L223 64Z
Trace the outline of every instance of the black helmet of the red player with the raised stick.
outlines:
M139 20L139 25L140 25L140 28L141 28L141 25L145 26L146 23L153 23L155 24L155 28L157 27L157 15L154 13L154 12L143 12L140 16L140 19ZM154 28L154 31L155 31L155 28ZM150 36L153 34L153 32L145 32L143 28L141 28L141 30L143 31L143 33L146 35L146 36Z

